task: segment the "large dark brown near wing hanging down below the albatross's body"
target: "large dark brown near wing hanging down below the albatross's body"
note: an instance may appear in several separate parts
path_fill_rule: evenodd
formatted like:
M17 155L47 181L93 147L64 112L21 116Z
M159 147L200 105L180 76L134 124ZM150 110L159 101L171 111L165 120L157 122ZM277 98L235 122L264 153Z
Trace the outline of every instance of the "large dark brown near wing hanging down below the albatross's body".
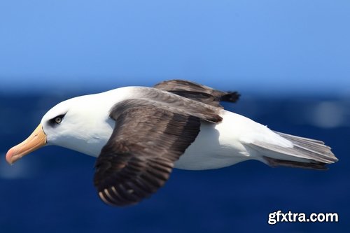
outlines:
M110 114L116 126L95 165L94 185L99 197L107 204L125 206L162 187L174 162L195 141L200 120L222 119L215 108L198 105L202 113L196 116L149 99L116 104Z

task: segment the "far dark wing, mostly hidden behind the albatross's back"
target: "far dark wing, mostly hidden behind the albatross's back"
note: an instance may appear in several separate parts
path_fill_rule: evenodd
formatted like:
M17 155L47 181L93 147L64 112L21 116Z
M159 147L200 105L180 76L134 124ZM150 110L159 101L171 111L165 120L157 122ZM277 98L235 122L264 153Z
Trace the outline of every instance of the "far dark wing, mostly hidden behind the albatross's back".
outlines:
M240 96L238 92L222 92L187 80L168 80L154 87L216 107L221 107L220 101L235 103Z

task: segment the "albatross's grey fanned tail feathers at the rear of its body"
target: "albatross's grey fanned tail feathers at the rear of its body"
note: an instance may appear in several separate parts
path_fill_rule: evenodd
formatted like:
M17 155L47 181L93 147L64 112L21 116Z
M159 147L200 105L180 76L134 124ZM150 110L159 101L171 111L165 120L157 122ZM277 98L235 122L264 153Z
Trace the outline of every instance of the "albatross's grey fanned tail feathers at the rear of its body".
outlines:
M330 147L325 146L323 141L280 132L275 133L292 142L293 147L285 148L262 142L254 142L250 145L262 154L263 162L271 167L286 166L323 170L327 169L325 164L338 161Z

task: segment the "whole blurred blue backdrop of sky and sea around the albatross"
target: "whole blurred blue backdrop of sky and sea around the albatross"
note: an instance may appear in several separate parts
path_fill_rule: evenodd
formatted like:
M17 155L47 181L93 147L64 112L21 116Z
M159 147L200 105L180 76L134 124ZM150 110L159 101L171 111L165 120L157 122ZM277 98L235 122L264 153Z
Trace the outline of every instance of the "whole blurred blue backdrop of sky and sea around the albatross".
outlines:
M1 232L349 232L349 12L345 0L1 1ZM60 101L174 78L239 91L225 108L325 141L339 162L174 170L127 208L99 200L93 157L46 147L6 164ZM278 210L339 223L268 225Z

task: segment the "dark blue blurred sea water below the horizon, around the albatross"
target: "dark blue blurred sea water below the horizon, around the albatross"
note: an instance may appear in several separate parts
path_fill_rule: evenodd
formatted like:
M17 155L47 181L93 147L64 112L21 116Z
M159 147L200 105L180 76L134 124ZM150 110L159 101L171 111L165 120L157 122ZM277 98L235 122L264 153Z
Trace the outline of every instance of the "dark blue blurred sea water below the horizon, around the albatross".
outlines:
M349 232L350 99L242 97L225 108L271 129L325 141L339 158L328 171L242 162L209 171L175 169L166 185L136 206L97 197L94 158L48 146L13 166L8 148L43 113L79 95L0 95L0 232ZM339 223L267 223L268 214L338 213Z

